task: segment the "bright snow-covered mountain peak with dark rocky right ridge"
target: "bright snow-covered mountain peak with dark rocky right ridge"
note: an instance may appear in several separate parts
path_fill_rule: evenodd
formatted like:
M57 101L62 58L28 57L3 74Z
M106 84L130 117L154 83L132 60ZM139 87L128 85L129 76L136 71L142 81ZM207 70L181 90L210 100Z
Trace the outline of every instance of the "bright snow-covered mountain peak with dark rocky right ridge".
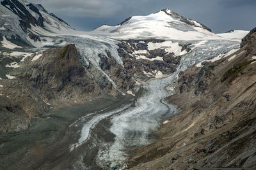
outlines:
M164 39L220 39L211 29L200 22L191 20L164 9L147 16L129 17L116 26L102 25L92 31L120 39L164 38Z

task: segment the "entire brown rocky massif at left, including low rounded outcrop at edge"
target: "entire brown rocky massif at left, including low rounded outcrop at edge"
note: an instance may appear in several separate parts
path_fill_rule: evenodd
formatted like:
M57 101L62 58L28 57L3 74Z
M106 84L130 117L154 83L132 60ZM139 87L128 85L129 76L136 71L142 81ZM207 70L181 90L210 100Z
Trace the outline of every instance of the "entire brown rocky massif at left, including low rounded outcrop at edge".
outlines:
M52 106L118 95L98 69L81 64L74 45L35 53L20 64L10 73L15 79L0 80L1 132L26 129L29 117L38 117Z

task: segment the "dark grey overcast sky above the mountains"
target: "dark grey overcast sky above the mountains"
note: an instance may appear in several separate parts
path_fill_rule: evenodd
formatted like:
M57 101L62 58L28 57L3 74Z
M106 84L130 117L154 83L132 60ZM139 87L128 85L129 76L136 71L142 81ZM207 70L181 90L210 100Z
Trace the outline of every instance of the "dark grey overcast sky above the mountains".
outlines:
M80 31L102 24L116 25L134 15L170 8L197 20L213 32L256 27L256 0L28 0L42 4Z

